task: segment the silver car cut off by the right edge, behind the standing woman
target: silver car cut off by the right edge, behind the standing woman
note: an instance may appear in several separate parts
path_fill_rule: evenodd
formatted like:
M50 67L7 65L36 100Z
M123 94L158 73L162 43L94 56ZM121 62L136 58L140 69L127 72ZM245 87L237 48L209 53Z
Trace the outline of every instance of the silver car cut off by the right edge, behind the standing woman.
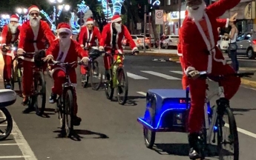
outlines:
M255 59L256 57L256 33L255 32L246 32L237 36L237 55L247 56L248 59Z

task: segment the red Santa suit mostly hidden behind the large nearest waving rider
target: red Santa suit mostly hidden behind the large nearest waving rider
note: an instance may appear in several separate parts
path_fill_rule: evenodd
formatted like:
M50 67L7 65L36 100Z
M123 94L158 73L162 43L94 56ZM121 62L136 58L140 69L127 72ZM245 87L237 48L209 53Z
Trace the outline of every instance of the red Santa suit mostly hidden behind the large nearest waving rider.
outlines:
M216 19L216 21L217 21L218 27L229 27L229 23L227 23L227 19ZM186 73L184 71L185 63L183 60L183 53L182 53L182 46L181 46L181 41L182 41L181 32L182 32L182 28L180 28L179 30L179 43L177 44L177 55L180 56L180 65L183 70L183 79L182 79L183 90L186 90L186 87L188 87L188 76L186 76Z

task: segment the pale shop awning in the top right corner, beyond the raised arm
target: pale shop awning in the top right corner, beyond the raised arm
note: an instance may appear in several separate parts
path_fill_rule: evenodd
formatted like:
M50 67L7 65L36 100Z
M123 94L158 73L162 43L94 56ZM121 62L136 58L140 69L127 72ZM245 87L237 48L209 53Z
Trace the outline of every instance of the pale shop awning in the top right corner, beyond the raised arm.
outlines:
M231 10L227 10L220 18L229 19L234 13L238 13L237 19L255 19L255 1L239 3Z

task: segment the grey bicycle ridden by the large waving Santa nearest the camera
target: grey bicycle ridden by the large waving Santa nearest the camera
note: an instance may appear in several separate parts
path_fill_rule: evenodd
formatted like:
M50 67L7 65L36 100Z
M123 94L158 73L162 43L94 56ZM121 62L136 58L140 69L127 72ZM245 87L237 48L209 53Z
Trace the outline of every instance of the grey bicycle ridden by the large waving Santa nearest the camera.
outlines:
M219 76L210 76L211 78L220 80L224 79L226 76L238 76L238 77L249 77L254 75L254 73L233 73L229 75L219 75ZM207 79L209 75L203 71L200 72L200 79ZM234 114L229 105L229 101L225 99L223 85L218 81L218 90L211 95L206 95L206 103L204 107L204 125L203 129L200 133L200 139L198 139L198 148L200 159L204 159L206 157L206 150L210 153L208 145L216 142L217 135L217 150L219 153L219 157L222 157L223 147L222 144L226 146L226 144L234 144L234 160L239 159L239 141L238 141L238 133L237 133L237 124L234 119ZM214 97L218 96L216 106L209 106L209 101ZM228 123L223 120L223 116L228 117ZM208 121L208 122L206 122ZM223 129L224 127L229 127L229 137L228 139L223 138ZM211 135L214 133L213 138L211 139ZM198 159L198 158L197 158Z

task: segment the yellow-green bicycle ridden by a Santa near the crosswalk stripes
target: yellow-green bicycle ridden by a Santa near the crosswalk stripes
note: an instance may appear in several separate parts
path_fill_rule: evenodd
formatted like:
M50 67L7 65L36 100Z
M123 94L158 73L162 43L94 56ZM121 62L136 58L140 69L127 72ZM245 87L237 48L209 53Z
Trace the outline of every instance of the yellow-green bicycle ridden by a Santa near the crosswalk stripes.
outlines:
M128 76L124 69L122 59L124 55L119 53L114 61L114 53L104 52L106 56L111 56L110 74L105 75L105 95L107 99L113 99L114 89L116 88L116 96L119 104L125 104L128 99ZM123 79L123 82L121 82ZM124 96L120 94L124 93Z

